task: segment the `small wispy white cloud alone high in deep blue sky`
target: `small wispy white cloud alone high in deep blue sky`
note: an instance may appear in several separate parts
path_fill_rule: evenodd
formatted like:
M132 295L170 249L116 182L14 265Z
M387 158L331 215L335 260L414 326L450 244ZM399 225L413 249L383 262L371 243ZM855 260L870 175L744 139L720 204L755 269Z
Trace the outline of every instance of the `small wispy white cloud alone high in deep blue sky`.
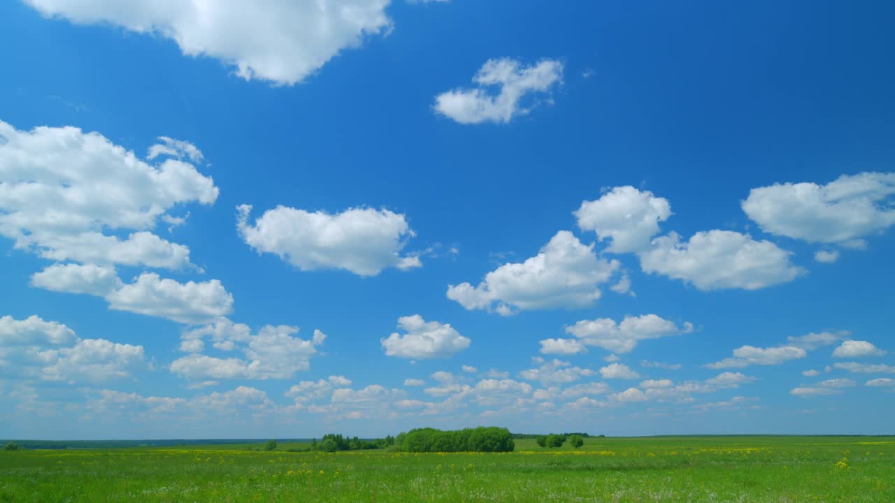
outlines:
M460 124L485 122L507 124L519 115L526 115L537 101L523 100L529 95L547 94L562 81L563 64L555 59L542 59L533 66L509 58L489 59L473 77L474 89L456 89L435 97L435 111ZM497 94L490 87L499 87Z

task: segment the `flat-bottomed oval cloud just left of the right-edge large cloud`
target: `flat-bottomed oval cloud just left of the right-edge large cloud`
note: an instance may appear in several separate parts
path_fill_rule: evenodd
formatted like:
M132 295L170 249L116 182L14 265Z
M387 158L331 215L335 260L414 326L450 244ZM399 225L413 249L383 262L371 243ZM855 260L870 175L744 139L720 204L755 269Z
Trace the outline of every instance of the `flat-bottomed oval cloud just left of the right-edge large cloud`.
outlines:
M805 274L790 263L790 254L748 234L711 230L684 243L674 232L657 237L639 257L644 272L681 279L700 290L756 290Z

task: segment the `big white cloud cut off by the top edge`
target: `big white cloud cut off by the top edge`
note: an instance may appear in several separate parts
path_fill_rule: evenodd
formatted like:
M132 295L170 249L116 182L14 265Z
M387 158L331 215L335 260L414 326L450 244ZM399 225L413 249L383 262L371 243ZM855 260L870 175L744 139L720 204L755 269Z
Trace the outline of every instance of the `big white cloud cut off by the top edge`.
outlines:
M303 80L343 49L391 26L385 13L390 0L26 1L47 16L171 38L184 55L210 56L235 66L243 79L277 84Z

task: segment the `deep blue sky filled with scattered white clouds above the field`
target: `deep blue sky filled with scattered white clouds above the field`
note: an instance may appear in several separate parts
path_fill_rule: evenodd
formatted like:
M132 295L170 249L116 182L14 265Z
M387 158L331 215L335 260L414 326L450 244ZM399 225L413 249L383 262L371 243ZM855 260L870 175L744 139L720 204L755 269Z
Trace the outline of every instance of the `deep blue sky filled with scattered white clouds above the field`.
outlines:
M895 5L0 5L13 439L885 434Z

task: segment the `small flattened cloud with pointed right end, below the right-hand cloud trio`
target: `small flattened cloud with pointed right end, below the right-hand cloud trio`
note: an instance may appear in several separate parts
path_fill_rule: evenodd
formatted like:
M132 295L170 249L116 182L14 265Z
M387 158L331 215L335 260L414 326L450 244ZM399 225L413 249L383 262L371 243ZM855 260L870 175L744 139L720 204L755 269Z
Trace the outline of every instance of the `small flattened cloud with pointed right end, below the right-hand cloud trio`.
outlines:
M581 320L566 328L567 334L578 337L583 345L594 345L614 353L630 353L638 341L685 334L693 331L693 324L684 322L683 328L655 314L626 316L620 323L609 318Z

